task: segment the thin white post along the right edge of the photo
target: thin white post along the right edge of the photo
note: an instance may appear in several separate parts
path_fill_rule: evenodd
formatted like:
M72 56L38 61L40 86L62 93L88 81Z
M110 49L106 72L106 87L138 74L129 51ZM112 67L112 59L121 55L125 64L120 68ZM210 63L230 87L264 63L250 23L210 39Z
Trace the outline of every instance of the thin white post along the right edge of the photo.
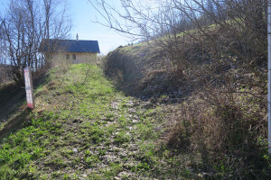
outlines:
M267 37L268 37L268 153L271 155L271 0L267 4Z

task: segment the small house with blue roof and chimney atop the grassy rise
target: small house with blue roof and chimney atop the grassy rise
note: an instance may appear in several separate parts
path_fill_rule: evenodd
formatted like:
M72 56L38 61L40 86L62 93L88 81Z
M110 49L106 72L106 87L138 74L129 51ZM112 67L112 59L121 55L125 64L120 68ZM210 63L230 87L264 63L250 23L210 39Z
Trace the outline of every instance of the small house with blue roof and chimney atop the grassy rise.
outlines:
M97 58L98 40L42 40L40 52L51 60L67 59L73 64L87 63Z

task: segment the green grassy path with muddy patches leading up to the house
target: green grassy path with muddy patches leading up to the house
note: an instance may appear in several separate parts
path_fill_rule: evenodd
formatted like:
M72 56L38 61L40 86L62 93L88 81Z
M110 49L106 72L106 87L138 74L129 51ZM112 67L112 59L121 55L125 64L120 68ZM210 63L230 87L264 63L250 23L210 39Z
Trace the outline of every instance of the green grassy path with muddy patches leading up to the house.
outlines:
M163 108L117 92L98 67L54 69L35 96L23 129L1 140L1 179L176 179L183 172L158 143Z

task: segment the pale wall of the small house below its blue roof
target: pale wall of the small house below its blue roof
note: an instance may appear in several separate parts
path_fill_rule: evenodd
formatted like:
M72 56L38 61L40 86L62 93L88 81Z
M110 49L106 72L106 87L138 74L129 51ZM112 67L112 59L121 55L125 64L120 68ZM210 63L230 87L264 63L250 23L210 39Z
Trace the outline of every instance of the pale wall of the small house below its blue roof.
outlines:
M72 64L88 63L96 61L97 53L90 52L59 52L51 54L51 60L66 60Z

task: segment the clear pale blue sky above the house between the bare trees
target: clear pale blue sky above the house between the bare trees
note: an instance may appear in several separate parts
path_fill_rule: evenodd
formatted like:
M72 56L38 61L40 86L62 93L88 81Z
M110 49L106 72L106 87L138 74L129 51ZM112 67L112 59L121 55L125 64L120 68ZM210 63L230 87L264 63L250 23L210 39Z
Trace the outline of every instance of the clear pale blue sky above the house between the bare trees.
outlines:
M64 0L65 1L65 0ZM92 21L101 20L95 8L89 3L89 0L66 0L68 2L67 13L72 20L72 29L70 39L76 40L76 34L79 34L79 40L98 40L101 54L107 55L111 50L118 46L131 43L130 39L120 35L117 31L104 27ZM107 0L117 4L119 0ZM0 0L0 14L5 12L5 4L9 0Z

